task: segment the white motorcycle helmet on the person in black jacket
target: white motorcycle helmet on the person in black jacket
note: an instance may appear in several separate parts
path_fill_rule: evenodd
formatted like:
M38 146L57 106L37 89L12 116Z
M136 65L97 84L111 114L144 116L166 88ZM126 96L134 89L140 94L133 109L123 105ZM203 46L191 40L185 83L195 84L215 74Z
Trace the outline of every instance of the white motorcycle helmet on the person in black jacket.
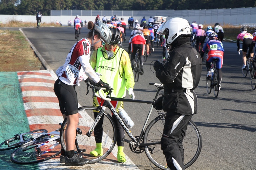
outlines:
M165 35L166 44L171 45L178 36L190 35L191 29L187 20L175 17L162 23L156 33Z

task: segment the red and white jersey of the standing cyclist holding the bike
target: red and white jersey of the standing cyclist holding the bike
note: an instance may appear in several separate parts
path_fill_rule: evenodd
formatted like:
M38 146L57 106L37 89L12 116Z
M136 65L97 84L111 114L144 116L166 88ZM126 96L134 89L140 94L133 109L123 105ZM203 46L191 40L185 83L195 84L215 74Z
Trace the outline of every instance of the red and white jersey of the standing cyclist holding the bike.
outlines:
M100 81L89 62L91 46L87 38L83 38L73 45L62 69L57 74L63 83L79 86L79 82L87 77L94 82Z

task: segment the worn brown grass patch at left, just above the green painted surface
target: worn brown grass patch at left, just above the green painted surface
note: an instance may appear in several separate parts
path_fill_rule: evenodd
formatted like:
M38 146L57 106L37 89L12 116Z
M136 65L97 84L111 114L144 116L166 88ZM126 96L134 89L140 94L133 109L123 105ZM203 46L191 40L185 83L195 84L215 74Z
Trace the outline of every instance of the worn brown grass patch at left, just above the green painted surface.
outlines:
M0 71L31 71L42 67L20 31L0 30L0 60Z

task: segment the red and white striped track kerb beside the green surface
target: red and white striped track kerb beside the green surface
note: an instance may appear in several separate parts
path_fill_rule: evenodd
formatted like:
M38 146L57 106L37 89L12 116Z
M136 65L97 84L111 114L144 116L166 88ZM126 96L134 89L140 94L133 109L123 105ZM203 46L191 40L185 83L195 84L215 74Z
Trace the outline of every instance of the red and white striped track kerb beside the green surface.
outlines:
M57 76L47 70L17 72L23 98L23 106L31 130L47 129L52 132L60 128L59 122L63 121L53 86ZM117 157L117 146L112 151ZM107 157L108 158L108 157ZM117 160L117 158L116 158ZM126 163L121 164L111 161L100 161L82 167L67 167L60 164L59 157L39 164L40 169L139 169L126 156Z

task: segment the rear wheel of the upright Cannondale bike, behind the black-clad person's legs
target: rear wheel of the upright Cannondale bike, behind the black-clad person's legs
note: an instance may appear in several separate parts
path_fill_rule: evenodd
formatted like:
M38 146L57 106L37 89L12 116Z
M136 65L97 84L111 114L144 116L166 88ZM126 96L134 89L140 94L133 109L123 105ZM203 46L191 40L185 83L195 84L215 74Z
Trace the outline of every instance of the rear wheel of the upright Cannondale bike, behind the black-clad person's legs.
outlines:
M144 143L156 143L155 145L144 147L145 153L156 167L164 170L169 170L166 163L166 158L161 150L160 140L163 133L164 121L166 114L156 117L148 125ZM187 126L186 135L183 139L184 149L184 166L188 168L198 158L202 148L202 137L195 123L190 120Z

